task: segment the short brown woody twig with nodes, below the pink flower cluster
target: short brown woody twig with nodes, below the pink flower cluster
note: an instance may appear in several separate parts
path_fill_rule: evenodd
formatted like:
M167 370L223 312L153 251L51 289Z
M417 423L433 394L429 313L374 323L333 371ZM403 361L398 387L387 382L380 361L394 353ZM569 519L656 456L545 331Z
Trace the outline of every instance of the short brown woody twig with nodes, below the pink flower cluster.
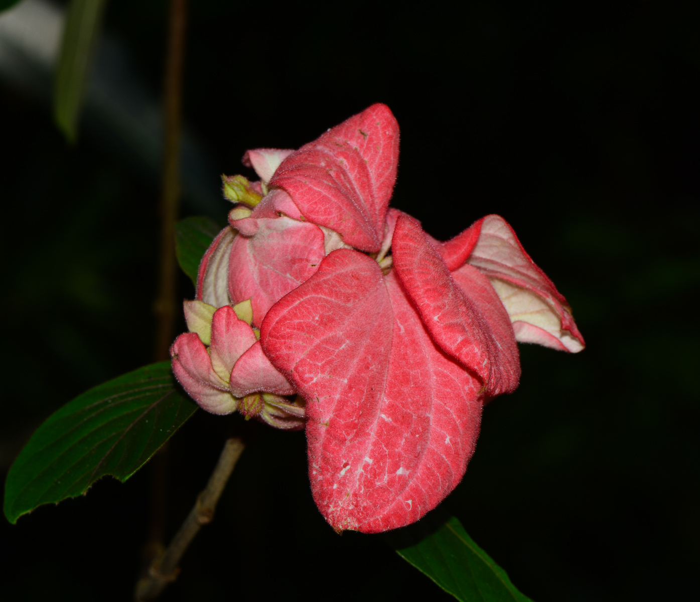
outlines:
M151 563L148 575L139 580L136 587L137 602L154 600L165 589L165 586L176 580L180 571L178 564L188 545L200 531L202 525L214 519L216 503L223 493L228 478L243 452L244 444L240 439L229 439L226 441L221 456L214 472L209 477L209 482L202 493L197 496L190 514L183 522L179 531L175 534L170 545L157 559Z

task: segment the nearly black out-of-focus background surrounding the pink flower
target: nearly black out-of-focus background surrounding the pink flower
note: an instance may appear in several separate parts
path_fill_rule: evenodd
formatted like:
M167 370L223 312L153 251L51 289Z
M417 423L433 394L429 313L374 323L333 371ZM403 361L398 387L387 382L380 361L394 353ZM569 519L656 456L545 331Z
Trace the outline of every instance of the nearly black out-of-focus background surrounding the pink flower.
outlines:
M537 602L694 598L698 5L192 4L184 110L213 193L218 173L251 175L246 148L295 148L385 102L402 135L393 206L442 239L503 215L573 306L587 349L521 346L520 387L486 407L446 507ZM165 8L106 15L153 94ZM0 107L4 475L52 411L152 361L158 178L99 126L66 146L13 87ZM239 416L197 412L172 440L169 533L241 429L249 447L164 601L440 596L380 537L325 525L302 433ZM0 521L0 596L130 599L150 470Z

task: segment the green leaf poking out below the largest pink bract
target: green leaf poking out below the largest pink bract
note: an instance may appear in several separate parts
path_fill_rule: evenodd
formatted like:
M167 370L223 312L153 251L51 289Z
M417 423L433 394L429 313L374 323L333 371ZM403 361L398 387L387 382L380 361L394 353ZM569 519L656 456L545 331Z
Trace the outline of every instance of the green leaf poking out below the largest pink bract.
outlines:
M464 530L455 517L433 510L386 538L402 559L463 602L532 602Z

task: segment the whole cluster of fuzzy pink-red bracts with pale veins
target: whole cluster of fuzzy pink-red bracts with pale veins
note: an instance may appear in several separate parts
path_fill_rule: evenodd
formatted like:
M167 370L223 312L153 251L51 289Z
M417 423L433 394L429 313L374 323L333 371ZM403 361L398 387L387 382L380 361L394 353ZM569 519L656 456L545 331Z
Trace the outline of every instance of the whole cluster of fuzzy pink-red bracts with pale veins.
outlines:
M244 162L266 195L204 255L174 373L209 412L305 421L311 491L337 531L410 524L463 477L484 403L517 387L517 341L583 349L570 307L500 216L443 243L388 209L385 105Z

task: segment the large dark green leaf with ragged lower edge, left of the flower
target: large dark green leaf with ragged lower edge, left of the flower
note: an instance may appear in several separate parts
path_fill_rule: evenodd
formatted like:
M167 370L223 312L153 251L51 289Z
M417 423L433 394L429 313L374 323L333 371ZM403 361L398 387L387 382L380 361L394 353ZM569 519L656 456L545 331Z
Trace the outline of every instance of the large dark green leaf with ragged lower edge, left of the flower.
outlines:
M15 523L42 504L85 493L104 475L125 482L196 409L169 362L78 395L49 416L10 468L5 516Z

